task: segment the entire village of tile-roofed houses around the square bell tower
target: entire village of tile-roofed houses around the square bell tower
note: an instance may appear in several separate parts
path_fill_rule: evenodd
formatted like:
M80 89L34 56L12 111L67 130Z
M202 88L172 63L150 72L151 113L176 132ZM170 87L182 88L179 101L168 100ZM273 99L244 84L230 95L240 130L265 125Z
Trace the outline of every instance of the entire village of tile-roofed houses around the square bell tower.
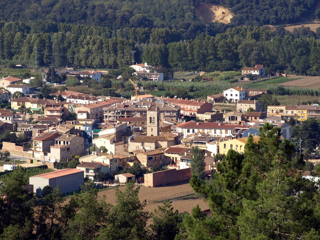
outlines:
M153 81L163 81L161 74L148 75L152 66L147 63L131 67L136 70L134 74L147 74ZM99 71L81 74L101 80ZM265 69L263 65L243 68L243 77L248 74L264 77ZM2 90L0 98L11 103L11 109L0 110L0 133L11 131L27 137L23 143L4 141L2 151L9 151L12 159L27 160L28 166L46 165L53 170L61 162L78 161L75 168L30 177L32 191L38 196L47 185L54 188L60 184L62 194L78 191L84 179L101 186L108 186L110 180L133 180L147 187L189 180L195 147L201 149L205 175L210 177L221 161L216 156L226 155L229 149L243 154L248 137L253 135L254 141L258 141L259 129L265 124L280 128L281 138L291 141L292 126L286 120L320 117L316 104L263 109L258 99L268 94L266 89L236 86L200 101L138 95L137 87L131 99L65 90L52 93L51 100L40 99L36 91L30 92L22 84L26 81L11 76L0 80L0 85L10 91ZM11 95L20 89L25 90L25 96L12 99ZM233 106L234 110L220 112L212 107L216 101ZM34 113L32 123L25 109ZM37 114L39 110L43 110L41 115ZM76 120L68 120L71 113L76 114ZM149 172L135 176L125 171L134 164ZM155 167L157 171L150 172ZM15 168L12 161L4 165L3 171Z

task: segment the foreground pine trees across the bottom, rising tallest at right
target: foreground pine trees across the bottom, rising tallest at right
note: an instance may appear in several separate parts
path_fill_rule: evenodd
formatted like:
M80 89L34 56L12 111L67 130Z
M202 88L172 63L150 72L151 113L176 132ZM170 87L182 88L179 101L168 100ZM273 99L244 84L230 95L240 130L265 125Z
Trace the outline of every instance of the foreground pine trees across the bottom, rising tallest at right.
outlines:
M216 155L221 162L209 179L204 178L204 156L193 150L190 184L208 201L207 211L197 206L179 213L165 201L148 213L133 181L116 189L116 205L98 196L91 181L67 201L59 187L49 186L39 199L24 188L31 170L18 168L5 174L0 187L0 239L319 239L320 194L302 174L312 170L320 176L320 164L312 169L295 155L294 144L282 141L280 131L265 124L259 141L249 136L243 155L233 149Z

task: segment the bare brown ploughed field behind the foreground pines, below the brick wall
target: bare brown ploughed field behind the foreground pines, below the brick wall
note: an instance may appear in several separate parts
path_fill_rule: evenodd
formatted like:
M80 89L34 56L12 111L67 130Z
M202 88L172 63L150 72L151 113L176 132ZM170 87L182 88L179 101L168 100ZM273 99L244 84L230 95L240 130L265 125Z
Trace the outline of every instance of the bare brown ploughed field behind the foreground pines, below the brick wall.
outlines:
M121 191L124 191L125 187L118 187ZM142 202L147 200L147 205L144 210L148 212L153 212L158 205L162 203L154 203L157 200L171 199L174 197L185 196L188 194L192 194L193 190L189 184L189 181L182 182L180 184L171 184L163 187L157 188L149 188L141 186L139 190L139 200ZM112 205L116 205L116 188L111 188L98 192L98 196L102 197L106 196L106 202ZM69 202L70 198L67 198L64 204ZM208 202L204 202L204 200L196 198L196 199L187 199L187 200L179 200L173 201L172 207L174 210L178 210L179 212L191 212L192 208L196 207L196 205L202 210L209 209Z

